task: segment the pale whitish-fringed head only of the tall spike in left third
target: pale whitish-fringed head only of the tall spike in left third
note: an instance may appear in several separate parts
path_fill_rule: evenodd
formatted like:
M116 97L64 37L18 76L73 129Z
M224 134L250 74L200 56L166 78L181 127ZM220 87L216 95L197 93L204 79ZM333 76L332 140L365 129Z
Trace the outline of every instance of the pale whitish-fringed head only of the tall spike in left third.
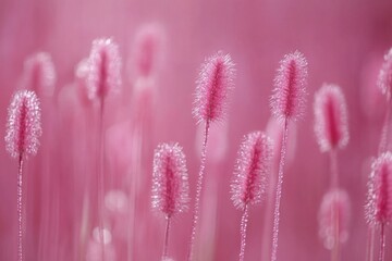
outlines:
M88 97L105 99L121 86L121 59L119 47L112 39L97 39L88 60Z

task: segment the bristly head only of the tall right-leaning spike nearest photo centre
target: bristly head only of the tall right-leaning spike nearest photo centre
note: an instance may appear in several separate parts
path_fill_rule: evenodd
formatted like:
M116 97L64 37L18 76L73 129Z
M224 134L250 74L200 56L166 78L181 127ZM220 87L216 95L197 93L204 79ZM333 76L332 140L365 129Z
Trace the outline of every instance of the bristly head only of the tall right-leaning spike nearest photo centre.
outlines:
M229 54L219 51L201 65L197 80L193 114L200 122L224 117L229 94L234 88L234 63Z

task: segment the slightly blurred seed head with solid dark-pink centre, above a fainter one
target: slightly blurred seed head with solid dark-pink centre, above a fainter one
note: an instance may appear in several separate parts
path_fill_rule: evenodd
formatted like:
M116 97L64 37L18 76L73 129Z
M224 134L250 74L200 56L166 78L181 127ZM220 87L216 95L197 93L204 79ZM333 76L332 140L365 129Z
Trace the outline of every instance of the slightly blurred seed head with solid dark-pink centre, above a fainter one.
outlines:
M315 95L315 133L322 152L343 149L350 139L347 108L336 85L323 84Z

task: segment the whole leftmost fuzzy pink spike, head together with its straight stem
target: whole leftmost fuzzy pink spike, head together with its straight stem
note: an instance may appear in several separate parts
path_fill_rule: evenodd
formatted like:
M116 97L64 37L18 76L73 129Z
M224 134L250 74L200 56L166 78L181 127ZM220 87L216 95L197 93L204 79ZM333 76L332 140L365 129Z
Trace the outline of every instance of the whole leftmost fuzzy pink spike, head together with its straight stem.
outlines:
M22 178L23 159L36 154L41 136L40 109L36 94L32 90L19 90L9 107L5 147L13 158L19 158L17 174L17 260L23 260L23 206Z

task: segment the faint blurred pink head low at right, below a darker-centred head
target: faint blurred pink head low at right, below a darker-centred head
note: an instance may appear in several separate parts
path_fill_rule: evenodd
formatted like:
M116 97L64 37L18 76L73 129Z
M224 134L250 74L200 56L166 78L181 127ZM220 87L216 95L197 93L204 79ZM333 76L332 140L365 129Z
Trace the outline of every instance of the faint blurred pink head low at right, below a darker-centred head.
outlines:
M318 220L319 237L323 246L332 250L332 260L339 259L336 246L348 239L351 206L347 192L343 189L329 190L322 198Z

